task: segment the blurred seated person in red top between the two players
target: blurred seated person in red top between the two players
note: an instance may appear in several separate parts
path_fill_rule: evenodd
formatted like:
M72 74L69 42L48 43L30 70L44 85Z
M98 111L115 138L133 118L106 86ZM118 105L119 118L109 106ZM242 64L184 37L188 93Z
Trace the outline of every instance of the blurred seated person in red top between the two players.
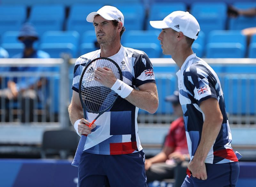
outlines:
M173 178L174 187L180 187L186 177L190 159L179 92L174 91L173 95L165 98L165 101L172 103L173 113L178 118L171 123L163 150L154 157L146 159L146 176L148 183Z

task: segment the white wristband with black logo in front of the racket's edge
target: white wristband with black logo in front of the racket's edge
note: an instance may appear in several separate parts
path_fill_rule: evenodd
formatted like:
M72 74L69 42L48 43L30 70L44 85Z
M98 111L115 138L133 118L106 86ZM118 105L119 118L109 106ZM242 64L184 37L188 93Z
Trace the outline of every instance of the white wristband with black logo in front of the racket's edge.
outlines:
M111 90L114 90L120 97L125 98L130 95L133 88L123 81L117 79L111 87Z

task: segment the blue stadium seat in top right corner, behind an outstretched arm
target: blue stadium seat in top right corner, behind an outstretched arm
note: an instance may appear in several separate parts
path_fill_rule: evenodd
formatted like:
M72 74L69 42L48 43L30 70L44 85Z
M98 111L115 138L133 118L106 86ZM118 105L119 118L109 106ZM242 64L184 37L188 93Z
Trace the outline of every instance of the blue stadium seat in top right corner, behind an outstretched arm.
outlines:
M246 10L249 8L255 8L256 2L236 2L233 6L238 9ZM237 18L230 18L228 25L230 30L242 30L248 27L255 27L256 17L238 16Z

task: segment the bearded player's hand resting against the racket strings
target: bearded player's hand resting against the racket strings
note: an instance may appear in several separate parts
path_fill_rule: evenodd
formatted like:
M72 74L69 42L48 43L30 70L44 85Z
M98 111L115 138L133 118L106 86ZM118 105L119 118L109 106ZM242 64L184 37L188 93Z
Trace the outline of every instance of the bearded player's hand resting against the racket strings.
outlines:
M111 69L104 67L94 70L94 80L98 81L99 83L111 88L113 84L116 82L116 77Z

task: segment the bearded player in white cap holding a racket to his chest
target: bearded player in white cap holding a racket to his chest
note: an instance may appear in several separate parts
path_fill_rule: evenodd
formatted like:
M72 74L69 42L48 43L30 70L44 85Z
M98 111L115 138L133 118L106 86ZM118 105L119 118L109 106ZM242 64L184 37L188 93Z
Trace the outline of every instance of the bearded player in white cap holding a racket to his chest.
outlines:
M124 16L113 6L90 13L100 49L76 60L73 96L68 111L76 132L88 134L78 167L79 186L147 186L145 156L138 136L139 108L154 113L158 108L156 81L152 64L143 51L123 47ZM111 69L94 70L97 81L112 90L122 85L110 111L101 115L89 128L78 95L79 78L85 64L98 57L108 57L120 66L123 81L116 80ZM95 114L86 112L87 119Z

